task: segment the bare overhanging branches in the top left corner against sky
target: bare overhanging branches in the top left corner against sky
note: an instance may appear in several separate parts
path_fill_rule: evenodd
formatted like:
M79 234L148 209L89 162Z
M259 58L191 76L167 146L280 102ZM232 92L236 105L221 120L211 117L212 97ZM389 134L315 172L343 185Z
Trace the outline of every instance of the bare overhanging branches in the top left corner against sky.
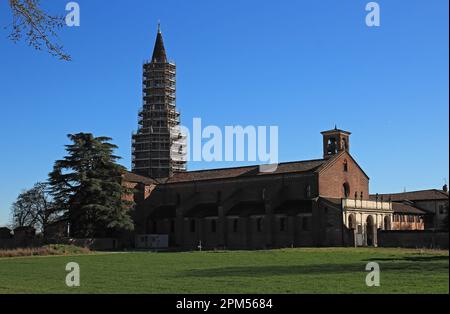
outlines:
M71 60L63 46L56 42L57 30L65 25L63 16L46 13L39 0L9 0L9 7L12 12L9 39L18 42L25 36L29 46L37 50L45 48L53 56Z

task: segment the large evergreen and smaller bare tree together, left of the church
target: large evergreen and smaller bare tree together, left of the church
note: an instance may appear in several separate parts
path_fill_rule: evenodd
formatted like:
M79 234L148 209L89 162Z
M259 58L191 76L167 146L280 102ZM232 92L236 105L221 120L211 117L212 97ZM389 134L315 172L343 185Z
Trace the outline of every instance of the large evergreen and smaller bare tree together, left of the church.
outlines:
M33 227L46 236L55 223L69 226L71 237L115 236L133 229L134 204L122 184L116 145L90 133L68 135L67 155L54 163L45 182L19 194L11 207L14 228Z

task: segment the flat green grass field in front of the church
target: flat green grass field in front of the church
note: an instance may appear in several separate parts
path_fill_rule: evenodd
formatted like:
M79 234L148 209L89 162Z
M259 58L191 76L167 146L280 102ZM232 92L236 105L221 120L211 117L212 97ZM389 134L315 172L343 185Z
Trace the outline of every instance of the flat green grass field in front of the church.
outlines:
M380 287L365 266L378 262ZM80 287L65 285L68 262ZM448 251L307 248L0 259L0 293L449 293Z

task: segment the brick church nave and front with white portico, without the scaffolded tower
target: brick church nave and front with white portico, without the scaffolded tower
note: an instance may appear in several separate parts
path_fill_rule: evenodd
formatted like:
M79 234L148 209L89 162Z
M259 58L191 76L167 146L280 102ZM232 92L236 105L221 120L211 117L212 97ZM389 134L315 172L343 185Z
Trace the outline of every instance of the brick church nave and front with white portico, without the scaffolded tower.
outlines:
M330 150L273 173L247 166L159 180L125 174L137 191L135 232L168 235L178 249L376 246L377 230L392 228L393 203L370 200L369 178L350 152Z

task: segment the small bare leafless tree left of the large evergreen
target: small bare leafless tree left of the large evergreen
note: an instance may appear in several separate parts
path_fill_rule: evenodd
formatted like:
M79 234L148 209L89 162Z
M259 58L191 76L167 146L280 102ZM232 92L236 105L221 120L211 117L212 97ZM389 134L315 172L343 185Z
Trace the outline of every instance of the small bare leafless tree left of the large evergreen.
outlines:
M33 227L45 235L46 227L57 218L48 184L38 182L20 193L12 205L11 214L14 228Z

